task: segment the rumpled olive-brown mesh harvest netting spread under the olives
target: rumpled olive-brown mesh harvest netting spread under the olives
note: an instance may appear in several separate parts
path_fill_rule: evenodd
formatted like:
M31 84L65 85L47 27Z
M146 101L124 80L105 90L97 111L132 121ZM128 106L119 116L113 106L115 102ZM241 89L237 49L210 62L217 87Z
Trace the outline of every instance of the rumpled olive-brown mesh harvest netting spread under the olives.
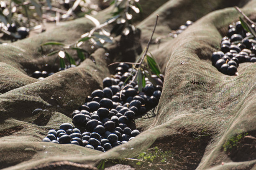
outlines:
M220 41L226 35L228 25L241 16L232 6L240 5L246 15L256 19L256 1L191 0L190 5L182 5L186 2L169 0L139 25L144 42L150 34L148 28L154 26L156 13L162 22L159 22L160 30L156 31L155 37L161 35L161 30L165 34L182 24L179 22L193 20L188 16L197 14L194 18L198 19L176 38L151 46L151 52L165 72L159 105L153 114L136 117L134 126L142 132L140 135L105 153L41 140L48 130L57 130L65 122L72 123L72 111L82 105L93 90L102 88L102 79L110 76L108 63L118 56L106 58L105 52L109 51L99 48L92 54L93 60L88 58L77 67L40 81L28 76L28 72L55 60L46 54L47 50L57 47L46 47L42 51L41 43L74 42L93 27L92 23L77 19L51 32L0 45L0 168L93 170L100 160L134 158L155 141L162 140L168 145L168 139L181 133L181 129L194 133L204 130L210 135L202 159L195 166L198 170L256 168L256 157L233 161L223 150L228 139L256 130L256 64L242 63L238 67L238 76L228 76L211 63L212 52L220 50ZM204 4L208 8L196 13L194 10L200 11L200 7L190 9L193 3L195 7ZM220 8L224 9L216 10ZM172 9L177 18L173 26L167 17ZM102 19L104 15L99 17ZM118 48L118 45L111 47L110 54ZM51 101L51 97L56 100ZM32 114L36 108L48 111ZM175 168L166 164L164 169Z

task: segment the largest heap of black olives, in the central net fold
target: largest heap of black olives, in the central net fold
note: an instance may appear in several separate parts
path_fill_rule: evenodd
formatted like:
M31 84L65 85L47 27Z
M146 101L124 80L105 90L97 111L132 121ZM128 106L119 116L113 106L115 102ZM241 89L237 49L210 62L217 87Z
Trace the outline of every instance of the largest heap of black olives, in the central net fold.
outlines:
M57 131L49 130L42 141L71 143L105 152L132 140L140 132L128 125L136 116L143 115L158 105L164 80L164 75L160 74L161 78L152 75L158 84L154 86L145 78L146 86L139 92L137 82L132 81L135 74L135 69L120 63L113 77L103 79L103 90L94 90L86 97L84 105L72 112L72 122L76 128L64 123ZM124 83L125 80L127 83Z

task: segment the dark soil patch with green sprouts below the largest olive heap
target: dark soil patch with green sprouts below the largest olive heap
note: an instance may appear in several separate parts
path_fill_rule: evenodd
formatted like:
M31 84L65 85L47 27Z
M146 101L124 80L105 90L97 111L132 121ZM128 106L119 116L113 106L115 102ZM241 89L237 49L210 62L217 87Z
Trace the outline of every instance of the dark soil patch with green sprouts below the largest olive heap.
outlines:
M196 133L180 129L179 133L156 140L137 158L105 161L105 168L125 164L136 170L195 170L210 140L210 132L205 130Z

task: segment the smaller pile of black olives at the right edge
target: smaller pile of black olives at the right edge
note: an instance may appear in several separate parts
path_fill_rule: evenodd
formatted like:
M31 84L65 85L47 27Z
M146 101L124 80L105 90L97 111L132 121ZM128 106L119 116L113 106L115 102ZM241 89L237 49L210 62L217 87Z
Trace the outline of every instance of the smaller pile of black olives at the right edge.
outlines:
M255 25L251 25L255 30ZM236 75L243 62L256 62L256 44L250 32L244 30L241 21L228 26L228 36L221 40L220 51L213 52L212 65L226 75Z

